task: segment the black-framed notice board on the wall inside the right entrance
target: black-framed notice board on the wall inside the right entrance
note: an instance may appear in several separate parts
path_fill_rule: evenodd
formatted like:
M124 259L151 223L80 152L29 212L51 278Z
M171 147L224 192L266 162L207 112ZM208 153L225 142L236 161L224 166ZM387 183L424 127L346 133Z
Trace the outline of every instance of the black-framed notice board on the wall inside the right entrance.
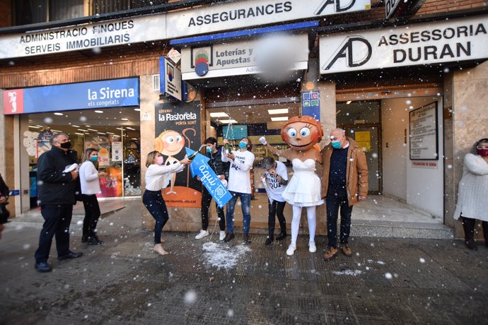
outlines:
M438 160L437 102L409 112L410 160Z

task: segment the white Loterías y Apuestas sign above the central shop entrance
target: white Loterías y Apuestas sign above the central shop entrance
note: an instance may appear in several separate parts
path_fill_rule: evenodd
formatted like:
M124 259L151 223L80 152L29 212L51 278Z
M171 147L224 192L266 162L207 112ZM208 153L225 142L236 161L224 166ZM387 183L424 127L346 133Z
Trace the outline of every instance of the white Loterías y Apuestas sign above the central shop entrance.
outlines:
M286 48L267 47L266 40L230 42L182 49L181 74L183 80L239 76L262 73L260 59L269 64L289 56L290 70L303 70L308 66L308 35L281 35ZM288 60L288 59L287 59Z

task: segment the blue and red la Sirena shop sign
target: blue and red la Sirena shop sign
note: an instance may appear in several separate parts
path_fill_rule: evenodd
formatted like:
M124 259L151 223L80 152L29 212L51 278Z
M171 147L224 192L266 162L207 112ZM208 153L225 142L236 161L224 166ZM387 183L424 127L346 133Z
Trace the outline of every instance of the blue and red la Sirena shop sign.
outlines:
M139 78L4 90L4 114L139 106Z

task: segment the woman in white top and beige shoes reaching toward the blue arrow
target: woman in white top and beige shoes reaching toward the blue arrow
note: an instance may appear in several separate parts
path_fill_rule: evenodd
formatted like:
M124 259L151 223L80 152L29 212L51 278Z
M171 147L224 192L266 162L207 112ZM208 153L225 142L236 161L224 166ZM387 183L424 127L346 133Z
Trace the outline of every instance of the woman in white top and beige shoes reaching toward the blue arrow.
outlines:
M163 249L161 242L161 232L169 219L168 208L164 202L161 189L168 186L170 176L173 172L181 172L185 165L190 164L188 158L184 158L171 165L163 165L163 155L158 151L151 151L146 158L146 191L142 196L142 202L149 213L156 220L154 225L154 251L161 255L169 254Z

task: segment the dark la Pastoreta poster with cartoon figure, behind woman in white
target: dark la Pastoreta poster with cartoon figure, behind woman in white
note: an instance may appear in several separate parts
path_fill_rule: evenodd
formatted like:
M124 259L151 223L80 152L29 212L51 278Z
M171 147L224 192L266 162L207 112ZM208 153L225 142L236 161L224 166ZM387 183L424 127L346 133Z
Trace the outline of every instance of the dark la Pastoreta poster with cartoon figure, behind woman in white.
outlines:
M165 102L156 105L156 137L154 148L163 154L165 165L185 158L188 147L198 150L200 137L199 102ZM167 206L199 208L202 183L193 179L190 168L170 175L170 184L163 189Z

